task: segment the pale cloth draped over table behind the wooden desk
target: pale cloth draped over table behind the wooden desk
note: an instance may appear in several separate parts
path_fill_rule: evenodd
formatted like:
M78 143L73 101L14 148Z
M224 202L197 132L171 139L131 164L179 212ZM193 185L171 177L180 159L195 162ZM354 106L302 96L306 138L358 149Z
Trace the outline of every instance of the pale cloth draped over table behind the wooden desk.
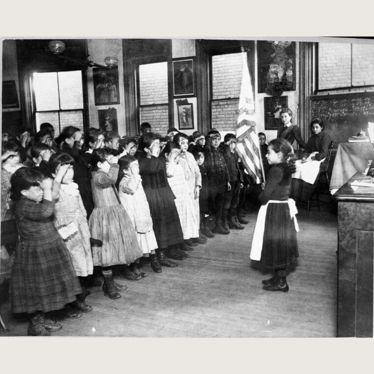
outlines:
M331 174L331 193L342 187L357 172L364 172L369 160L374 160L371 143L340 143Z

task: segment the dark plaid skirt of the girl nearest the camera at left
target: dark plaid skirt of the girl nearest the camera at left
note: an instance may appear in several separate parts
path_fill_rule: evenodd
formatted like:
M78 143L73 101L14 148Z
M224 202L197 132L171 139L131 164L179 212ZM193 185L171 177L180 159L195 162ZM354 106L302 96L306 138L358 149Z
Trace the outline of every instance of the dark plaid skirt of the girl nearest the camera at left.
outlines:
M10 280L13 312L60 310L81 292L70 254L57 231L44 237L43 243L19 241Z

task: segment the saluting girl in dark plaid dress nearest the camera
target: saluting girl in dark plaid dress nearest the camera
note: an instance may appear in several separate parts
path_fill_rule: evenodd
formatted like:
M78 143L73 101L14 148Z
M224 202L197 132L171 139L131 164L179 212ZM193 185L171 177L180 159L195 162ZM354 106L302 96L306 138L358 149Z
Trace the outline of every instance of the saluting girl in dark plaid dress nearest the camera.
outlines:
M66 246L53 223L52 180L20 168L11 179L11 198L20 240L10 282L15 313L30 313L28 335L50 335L61 325L44 318L82 292Z

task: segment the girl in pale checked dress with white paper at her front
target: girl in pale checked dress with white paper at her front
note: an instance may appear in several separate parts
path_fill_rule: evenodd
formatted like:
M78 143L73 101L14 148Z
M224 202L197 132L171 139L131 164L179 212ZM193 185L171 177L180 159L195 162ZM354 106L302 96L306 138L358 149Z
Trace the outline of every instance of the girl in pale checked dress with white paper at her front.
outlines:
M51 173L55 178L53 187L57 196L54 221L57 228L71 222L77 227L77 231L65 240L65 244L69 250L75 272L83 286L87 280L86 277L93 274L94 264L86 209L78 185L73 182L73 163L74 158L66 154L53 155L50 160ZM67 166L67 170L62 177L58 178L59 171L63 166ZM92 307L85 303L85 299L86 292L77 295L74 306L80 312L92 311Z

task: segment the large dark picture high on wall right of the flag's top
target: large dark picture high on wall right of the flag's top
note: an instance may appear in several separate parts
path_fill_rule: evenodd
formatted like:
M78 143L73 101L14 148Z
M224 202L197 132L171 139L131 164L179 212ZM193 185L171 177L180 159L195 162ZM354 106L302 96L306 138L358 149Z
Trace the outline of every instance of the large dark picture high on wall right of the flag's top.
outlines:
M272 96L296 89L296 43L257 41L258 92Z

